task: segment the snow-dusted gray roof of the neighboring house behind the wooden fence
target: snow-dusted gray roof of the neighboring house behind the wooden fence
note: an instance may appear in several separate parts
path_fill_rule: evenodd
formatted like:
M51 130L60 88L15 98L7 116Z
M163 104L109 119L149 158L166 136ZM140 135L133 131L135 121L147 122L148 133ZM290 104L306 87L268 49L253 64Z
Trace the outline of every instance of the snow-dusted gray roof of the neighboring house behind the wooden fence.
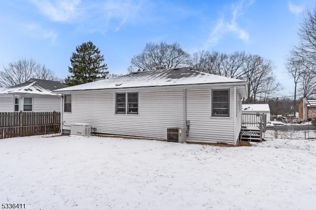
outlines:
M60 82L51 80L30 79L26 83L21 83L15 86L0 88L0 94L41 94L41 95L56 95L52 90L68 87Z

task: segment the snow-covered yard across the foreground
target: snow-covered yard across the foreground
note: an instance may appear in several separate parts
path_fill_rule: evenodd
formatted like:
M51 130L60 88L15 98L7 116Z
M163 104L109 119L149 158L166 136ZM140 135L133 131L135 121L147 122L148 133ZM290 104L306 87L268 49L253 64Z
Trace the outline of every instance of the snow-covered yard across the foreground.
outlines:
M105 137L0 140L0 203L27 210L312 210L316 141L215 147Z

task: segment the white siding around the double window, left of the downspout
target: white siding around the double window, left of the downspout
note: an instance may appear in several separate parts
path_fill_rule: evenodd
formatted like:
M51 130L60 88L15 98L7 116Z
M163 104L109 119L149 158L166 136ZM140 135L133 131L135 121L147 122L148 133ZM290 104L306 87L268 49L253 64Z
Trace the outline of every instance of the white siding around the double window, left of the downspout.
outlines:
M115 114L114 90L76 91L72 94L72 113L64 113L64 129L84 122L100 133L166 139L167 127L184 126L183 90L138 92L139 114L131 115Z

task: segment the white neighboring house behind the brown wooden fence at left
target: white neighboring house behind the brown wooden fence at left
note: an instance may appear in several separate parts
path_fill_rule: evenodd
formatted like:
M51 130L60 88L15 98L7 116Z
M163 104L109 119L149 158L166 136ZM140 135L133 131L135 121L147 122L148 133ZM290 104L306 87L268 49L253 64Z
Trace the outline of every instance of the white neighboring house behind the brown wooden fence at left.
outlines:
M0 88L0 112L60 111L61 97L51 91L66 87L60 82L30 79L26 83Z

